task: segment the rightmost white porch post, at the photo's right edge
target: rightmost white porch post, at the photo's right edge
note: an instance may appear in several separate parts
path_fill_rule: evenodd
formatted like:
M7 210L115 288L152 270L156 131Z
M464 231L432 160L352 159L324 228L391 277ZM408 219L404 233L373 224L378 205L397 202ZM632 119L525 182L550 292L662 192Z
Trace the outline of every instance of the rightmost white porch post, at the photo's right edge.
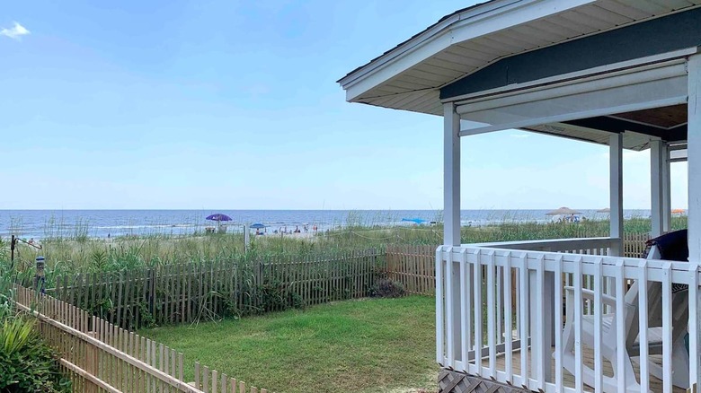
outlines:
M701 55L688 58L688 260L701 266ZM698 312L698 291L689 291L689 352L701 351L701 316ZM695 299L696 298L696 301ZM701 361L690 356L690 381L701 385ZM693 385L692 385L693 388Z

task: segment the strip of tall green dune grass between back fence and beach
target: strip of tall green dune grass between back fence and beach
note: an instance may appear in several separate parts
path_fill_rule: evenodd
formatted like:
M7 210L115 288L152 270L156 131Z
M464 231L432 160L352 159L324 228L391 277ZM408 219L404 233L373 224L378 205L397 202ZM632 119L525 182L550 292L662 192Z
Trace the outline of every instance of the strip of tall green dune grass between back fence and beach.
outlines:
M20 272L30 271L37 255L45 257L47 280L50 285L54 276L63 274L122 271L193 261L256 259L271 255L297 258L394 244L435 246L440 244L443 236L440 224L382 227L356 223L351 218L352 216L342 229L320 232L309 238L280 237L272 234L254 236L251 249L245 255L241 233L146 235L111 240L88 238L82 234L75 237L52 237L42 240L43 249L40 250L20 244L14 266ZM671 224L672 229L686 228L687 217L673 217ZM624 225L628 233L650 231L650 219L629 219ZM489 226L464 226L461 233L463 243L598 236L608 236L608 221L576 224L510 223L504 219L502 223ZM0 262L3 261L9 261L9 239L6 238L0 239Z

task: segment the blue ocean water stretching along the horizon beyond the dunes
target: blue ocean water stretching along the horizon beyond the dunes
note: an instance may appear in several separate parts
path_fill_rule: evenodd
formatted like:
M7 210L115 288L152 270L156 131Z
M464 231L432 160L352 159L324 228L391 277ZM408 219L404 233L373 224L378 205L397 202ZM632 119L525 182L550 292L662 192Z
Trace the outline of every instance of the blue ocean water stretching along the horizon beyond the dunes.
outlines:
M548 210L463 210L463 225L502 222L546 222ZM580 210L590 219L605 219L608 214ZM232 218L226 231L243 231L243 225L262 223L266 231L293 231L296 227L319 231L349 225L413 225L403 218L426 222L442 221L439 210L0 210L0 237L12 234L22 238L68 237L107 238L132 235L189 235L205 231L216 223L206 221L209 214L223 213ZM649 210L626 210L628 217L649 217ZM428 224L427 223L427 224Z

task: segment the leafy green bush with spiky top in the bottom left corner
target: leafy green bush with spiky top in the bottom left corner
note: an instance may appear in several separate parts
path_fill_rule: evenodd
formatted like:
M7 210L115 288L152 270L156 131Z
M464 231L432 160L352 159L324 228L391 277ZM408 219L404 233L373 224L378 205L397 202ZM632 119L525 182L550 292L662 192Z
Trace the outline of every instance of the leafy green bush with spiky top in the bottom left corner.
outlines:
M34 330L34 320L5 317L0 326L0 392L70 392L58 355Z

